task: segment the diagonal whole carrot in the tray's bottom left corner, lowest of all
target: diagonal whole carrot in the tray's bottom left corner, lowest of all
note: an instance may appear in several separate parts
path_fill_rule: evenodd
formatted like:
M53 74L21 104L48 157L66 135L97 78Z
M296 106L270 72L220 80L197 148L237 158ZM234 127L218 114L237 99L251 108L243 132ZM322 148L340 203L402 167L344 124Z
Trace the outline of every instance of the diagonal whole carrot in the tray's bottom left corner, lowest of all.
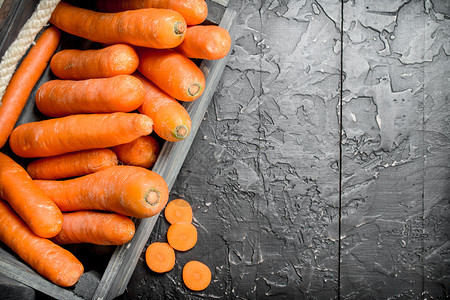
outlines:
M72 286L83 274L83 265L72 253L35 235L11 207L1 200L0 240L54 284Z

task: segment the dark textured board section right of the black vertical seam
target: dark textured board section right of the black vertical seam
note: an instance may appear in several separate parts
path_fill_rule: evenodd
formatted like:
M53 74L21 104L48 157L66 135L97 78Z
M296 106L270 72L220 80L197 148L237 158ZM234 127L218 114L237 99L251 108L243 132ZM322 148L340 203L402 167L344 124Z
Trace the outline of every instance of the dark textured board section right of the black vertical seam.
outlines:
M450 22L444 2L345 4L345 299L449 297Z

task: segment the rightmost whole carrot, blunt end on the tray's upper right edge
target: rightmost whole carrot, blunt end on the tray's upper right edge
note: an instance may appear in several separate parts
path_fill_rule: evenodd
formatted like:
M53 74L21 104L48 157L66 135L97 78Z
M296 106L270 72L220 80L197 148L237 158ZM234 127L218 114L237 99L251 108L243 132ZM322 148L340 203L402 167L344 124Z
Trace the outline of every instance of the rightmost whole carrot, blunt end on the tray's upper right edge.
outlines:
M216 25L188 27L183 42L175 50L189 58L221 59L231 48L228 30Z

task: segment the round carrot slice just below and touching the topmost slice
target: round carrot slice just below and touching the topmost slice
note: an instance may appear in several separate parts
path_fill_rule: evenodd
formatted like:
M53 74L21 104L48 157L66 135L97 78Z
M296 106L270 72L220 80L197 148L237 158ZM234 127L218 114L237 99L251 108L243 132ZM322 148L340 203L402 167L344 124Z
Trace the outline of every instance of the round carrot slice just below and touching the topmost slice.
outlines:
M167 241L178 251L192 249L197 243L197 228L192 223L174 223L167 230Z

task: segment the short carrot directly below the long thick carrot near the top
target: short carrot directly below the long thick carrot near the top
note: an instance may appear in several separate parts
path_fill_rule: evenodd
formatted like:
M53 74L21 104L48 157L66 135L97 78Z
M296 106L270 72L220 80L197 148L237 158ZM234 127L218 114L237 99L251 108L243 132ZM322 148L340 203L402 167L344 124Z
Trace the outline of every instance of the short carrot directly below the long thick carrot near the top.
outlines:
M138 65L136 51L125 44L91 50L66 49L50 60L56 77L73 80L130 75Z

